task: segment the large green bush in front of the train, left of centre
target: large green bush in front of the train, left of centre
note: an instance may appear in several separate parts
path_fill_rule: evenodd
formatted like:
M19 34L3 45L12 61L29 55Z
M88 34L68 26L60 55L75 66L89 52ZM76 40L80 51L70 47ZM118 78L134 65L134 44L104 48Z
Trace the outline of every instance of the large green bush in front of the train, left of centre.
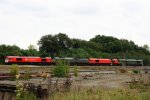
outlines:
M53 74L56 77L66 77L69 76L70 66L65 60L57 60L56 66L53 69Z

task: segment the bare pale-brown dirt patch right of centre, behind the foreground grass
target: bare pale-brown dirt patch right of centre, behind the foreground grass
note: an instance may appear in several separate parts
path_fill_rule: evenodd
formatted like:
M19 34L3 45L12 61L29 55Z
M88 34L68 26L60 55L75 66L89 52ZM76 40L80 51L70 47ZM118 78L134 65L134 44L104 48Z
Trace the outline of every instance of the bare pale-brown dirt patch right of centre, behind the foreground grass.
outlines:
M76 82L77 85L83 87L101 87L108 89L127 88L127 82L131 81L129 74L102 74L99 79L82 80Z

